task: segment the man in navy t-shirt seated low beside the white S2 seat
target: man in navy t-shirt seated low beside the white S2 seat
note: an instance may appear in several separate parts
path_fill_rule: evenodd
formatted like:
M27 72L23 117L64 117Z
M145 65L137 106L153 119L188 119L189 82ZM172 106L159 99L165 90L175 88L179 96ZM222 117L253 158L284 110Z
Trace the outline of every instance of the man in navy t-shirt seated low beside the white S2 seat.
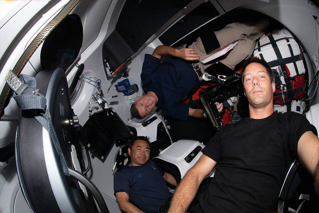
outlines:
M158 212L172 195L166 181L177 185L175 178L149 161L150 144L148 137L137 136L131 140L128 154L129 164L114 174L114 194L125 212ZM130 202L129 202L130 200ZM132 204L134 203L134 204Z

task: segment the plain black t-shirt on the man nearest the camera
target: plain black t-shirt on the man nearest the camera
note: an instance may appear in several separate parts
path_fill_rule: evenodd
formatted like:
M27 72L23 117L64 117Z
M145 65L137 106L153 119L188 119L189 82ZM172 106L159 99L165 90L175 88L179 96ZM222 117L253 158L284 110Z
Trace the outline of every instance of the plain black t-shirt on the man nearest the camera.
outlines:
M204 212L267 212L278 201L301 135L316 129L295 112L275 111L225 127L202 150L216 164L214 182L199 196Z

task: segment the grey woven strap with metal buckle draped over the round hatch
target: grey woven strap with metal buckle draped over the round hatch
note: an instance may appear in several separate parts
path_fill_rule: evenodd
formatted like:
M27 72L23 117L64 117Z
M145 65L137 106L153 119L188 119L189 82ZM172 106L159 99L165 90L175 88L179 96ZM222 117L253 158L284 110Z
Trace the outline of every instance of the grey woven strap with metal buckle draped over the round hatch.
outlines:
M36 89L36 80L32 76L28 76L25 74L21 74L19 76L19 79L21 80L22 85L29 85L34 90ZM23 87L23 86L20 86ZM25 91L25 90L24 90ZM50 134L53 143L56 147L56 151L58 152L60 163L62 165L63 173L65 176L70 176L67 162L63 156L63 152L60 147L59 140L56 136L56 131L52 124L52 119L50 112L48 110L47 106L47 100L45 97L41 95L36 94L26 94L23 95L23 91L20 94L13 93L13 98L16 100L18 106L22 110L37 110L36 115L34 115L34 118L37 119L37 121L48 131Z

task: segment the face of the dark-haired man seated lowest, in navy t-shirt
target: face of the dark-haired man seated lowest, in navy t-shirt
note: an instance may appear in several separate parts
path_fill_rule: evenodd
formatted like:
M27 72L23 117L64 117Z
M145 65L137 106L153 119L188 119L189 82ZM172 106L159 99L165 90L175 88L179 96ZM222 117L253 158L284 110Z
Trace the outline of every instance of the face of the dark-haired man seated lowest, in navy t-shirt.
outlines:
M150 159L150 146L146 141L136 140L128 153L131 156L131 166L142 166Z

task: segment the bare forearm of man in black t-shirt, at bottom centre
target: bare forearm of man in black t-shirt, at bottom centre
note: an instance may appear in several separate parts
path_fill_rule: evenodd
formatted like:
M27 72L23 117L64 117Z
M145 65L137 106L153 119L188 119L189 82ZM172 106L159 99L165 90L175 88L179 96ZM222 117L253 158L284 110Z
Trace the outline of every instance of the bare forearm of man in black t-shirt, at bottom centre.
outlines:
M215 165L216 161L205 155L198 159L177 186L168 213L184 213L188 209L202 180Z

